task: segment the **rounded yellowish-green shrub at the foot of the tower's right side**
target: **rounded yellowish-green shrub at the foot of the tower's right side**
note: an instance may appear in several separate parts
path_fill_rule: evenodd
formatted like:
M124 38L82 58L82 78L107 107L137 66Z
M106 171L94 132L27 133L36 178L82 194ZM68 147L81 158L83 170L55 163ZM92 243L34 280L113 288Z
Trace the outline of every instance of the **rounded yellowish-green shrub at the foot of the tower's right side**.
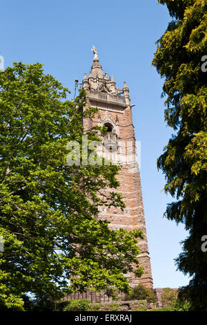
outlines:
M135 288L132 288L131 292L126 295L125 300L147 300L148 302L155 302L156 297L152 289L139 284Z

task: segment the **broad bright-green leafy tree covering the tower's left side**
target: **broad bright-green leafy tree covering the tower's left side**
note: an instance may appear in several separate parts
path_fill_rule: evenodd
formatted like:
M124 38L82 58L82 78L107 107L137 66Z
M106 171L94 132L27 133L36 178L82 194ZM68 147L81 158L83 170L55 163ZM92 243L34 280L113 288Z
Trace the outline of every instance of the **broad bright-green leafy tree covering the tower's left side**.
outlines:
M68 142L82 147L82 119L97 113L83 109L83 89L73 101L68 93L38 63L0 73L1 308L23 309L24 293L52 301L87 288L128 292L124 275L132 264L137 277L143 272L136 258L141 231L111 231L97 218L101 205L124 207L113 190L119 167L66 163ZM89 143L99 140L97 132L88 133Z

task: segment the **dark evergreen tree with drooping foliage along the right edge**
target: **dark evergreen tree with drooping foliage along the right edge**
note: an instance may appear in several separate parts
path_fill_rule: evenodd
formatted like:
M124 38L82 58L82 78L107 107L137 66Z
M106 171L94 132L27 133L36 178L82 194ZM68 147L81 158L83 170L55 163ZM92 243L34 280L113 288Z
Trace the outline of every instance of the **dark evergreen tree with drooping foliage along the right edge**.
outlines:
M192 310L207 310L207 253L201 251L207 232L207 3L159 2L168 6L173 20L157 42L152 64L165 78L165 119L174 134L158 167L166 176L165 191L176 199L166 217L184 223L189 232L177 266L191 279L180 295L190 297Z

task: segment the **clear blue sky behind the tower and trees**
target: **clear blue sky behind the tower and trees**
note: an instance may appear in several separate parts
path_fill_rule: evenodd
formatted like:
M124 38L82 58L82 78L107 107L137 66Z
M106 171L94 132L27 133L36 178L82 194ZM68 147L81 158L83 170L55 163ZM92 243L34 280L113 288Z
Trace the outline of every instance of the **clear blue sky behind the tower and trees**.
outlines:
M1 2L0 51L5 66L12 62L44 64L74 95L75 78L90 71L94 44L103 71L130 88L133 122L141 141L141 184L155 288L177 288L188 277L173 261L187 236L183 225L163 218L171 198L161 190L164 176L156 161L171 130L164 122L161 80L151 62L155 41L170 17L157 0L19 0Z

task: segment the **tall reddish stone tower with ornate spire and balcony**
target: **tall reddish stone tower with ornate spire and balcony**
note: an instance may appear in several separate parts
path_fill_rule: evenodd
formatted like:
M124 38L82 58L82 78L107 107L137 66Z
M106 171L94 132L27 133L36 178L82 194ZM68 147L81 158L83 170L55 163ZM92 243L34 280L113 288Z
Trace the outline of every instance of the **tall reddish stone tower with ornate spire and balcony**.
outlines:
M88 106L98 107L99 113L96 118L83 120L83 126L86 132L96 125L105 125L108 128L99 154L121 166L121 171L117 177L120 187L116 189L116 192L121 194L126 204L124 212L117 208L102 208L99 217L110 221L111 229L124 228L130 231L139 228L144 232L145 239L139 241L141 254L137 258L140 261L139 265L144 267L145 273L140 279L137 279L133 273L128 274L127 277L130 280L131 287L141 283L152 288L152 273L129 89L126 82L124 82L123 89L119 89L113 76L103 73L99 64L97 49L94 46L92 52L95 57L89 76L87 77L85 73L83 77L83 88L86 89Z

